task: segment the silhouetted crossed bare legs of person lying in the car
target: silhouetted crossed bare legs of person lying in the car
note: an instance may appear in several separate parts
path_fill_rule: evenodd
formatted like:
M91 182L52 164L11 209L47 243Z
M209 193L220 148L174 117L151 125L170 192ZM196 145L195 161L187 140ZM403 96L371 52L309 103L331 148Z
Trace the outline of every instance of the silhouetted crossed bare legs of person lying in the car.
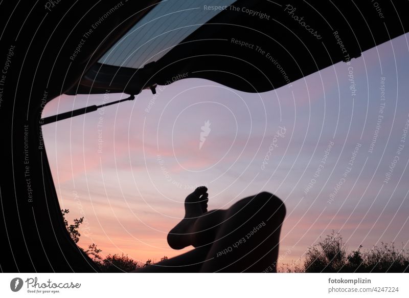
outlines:
M167 238L174 249L195 249L137 272L277 271L284 203L263 192L229 209L208 211L207 190L201 186L186 197L185 217Z

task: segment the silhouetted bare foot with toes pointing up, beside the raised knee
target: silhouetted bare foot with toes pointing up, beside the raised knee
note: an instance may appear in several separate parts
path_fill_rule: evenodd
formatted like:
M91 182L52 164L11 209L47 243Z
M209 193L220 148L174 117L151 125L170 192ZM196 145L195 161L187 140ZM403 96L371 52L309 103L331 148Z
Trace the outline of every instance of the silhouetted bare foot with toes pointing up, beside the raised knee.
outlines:
M168 233L168 244L173 249L181 249L192 245L191 229L196 219L207 212L207 188L200 186L185 199L185 217Z

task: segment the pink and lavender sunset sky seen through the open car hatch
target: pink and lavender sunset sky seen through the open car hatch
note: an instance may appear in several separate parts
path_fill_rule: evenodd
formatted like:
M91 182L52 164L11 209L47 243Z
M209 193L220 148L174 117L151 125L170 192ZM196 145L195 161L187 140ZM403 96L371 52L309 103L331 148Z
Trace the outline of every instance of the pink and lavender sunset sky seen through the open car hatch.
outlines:
M185 197L204 184L210 209L260 191L285 202L281 264L332 229L349 250L381 241L407 248L408 37L261 94L186 78L156 96L144 90L133 101L44 125L60 206L70 209L69 221L84 216L79 245L94 242L104 256L124 252L141 262L176 256L183 251L168 246L167 233L183 217ZM62 95L44 116L125 97ZM285 133L275 138L279 130Z

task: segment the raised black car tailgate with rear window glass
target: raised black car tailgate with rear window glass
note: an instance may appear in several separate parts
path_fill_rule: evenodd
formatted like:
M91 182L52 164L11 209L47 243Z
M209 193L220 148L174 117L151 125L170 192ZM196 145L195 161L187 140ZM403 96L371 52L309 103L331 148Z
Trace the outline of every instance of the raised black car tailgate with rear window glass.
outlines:
M157 4L90 65L66 94L138 94L175 77L245 92L273 90L408 31L408 2L372 4L168 0ZM230 5L229 5L230 3ZM178 79L176 79L178 80Z

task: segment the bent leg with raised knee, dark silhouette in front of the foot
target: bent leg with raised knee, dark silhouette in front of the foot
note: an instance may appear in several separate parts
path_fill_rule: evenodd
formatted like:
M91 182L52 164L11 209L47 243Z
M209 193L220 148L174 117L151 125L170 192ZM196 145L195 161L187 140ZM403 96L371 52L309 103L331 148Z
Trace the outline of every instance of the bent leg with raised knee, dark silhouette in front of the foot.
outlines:
M227 211L201 272L275 272L284 203L263 192Z

